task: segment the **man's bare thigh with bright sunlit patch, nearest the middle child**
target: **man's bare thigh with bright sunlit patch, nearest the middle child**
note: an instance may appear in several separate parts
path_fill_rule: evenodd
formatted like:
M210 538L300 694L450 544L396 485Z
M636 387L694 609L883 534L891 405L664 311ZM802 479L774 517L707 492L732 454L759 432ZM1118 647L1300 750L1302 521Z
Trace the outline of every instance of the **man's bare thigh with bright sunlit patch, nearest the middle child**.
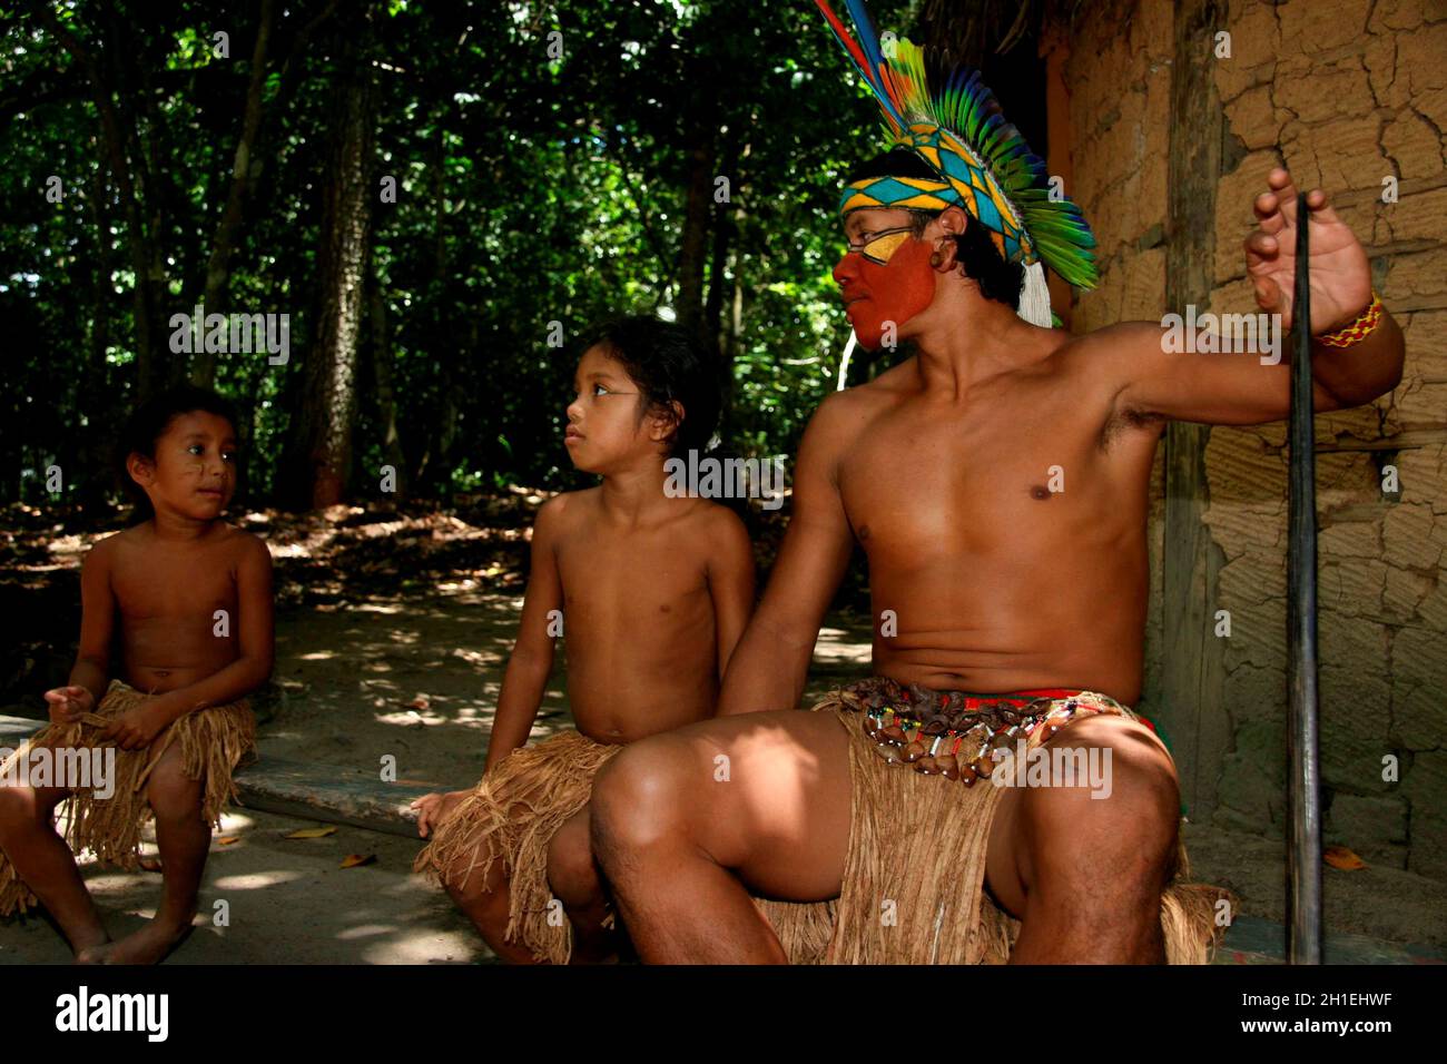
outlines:
M832 714L741 714L645 740L676 759L687 834L754 892L839 895L849 848L849 746ZM673 770L670 770L670 776Z

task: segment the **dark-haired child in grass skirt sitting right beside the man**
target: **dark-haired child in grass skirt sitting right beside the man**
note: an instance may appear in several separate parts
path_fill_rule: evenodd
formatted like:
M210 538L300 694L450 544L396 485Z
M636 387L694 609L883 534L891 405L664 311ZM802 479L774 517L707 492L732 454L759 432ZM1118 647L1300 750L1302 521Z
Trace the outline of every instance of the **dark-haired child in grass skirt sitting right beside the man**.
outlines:
M521 963L616 953L589 844L593 776L621 744L713 715L754 605L744 523L664 491L664 462L702 452L719 411L718 371L689 333L642 317L605 326L585 342L573 391L564 444L602 482L538 511L482 780L414 803L418 834L433 832L415 870ZM524 746L560 622L577 730Z

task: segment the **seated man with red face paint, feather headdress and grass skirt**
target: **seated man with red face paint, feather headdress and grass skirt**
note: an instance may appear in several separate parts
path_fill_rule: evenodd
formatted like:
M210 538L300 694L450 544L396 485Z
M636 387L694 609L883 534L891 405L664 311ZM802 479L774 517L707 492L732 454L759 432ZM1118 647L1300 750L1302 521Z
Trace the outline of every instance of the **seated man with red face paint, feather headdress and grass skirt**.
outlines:
M719 719L598 777L618 909L647 961L1201 963L1229 909L1188 882L1175 764L1127 708L1150 468L1168 420L1283 418L1289 365L1156 323L1052 329L1045 268L1097 279L1079 210L978 74L886 55L862 0L852 33L816 3L893 142L844 190L835 279L860 343L912 353L810 421ZM1285 332L1308 219L1281 169L1255 207L1247 269ZM1307 208L1315 408L1360 405L1402 336L1325 194ZM855 543L873 675L797 712Z

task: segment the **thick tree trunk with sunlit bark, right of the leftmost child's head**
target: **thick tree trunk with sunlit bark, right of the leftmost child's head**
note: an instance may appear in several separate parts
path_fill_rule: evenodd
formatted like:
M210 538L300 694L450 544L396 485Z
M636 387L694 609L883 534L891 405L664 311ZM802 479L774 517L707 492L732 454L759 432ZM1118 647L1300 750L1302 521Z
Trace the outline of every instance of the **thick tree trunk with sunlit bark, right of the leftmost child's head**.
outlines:
M352 23L368 33L365 16ZM352 472L352 430L357 407L357 337L365 313L368 237L372 220L372 65L365 43L343 41L328 113L330 181L321 193L317 253L317 326L304 368L305 387L294 427L292 453L302 459L294 505L313 510L343 499Z

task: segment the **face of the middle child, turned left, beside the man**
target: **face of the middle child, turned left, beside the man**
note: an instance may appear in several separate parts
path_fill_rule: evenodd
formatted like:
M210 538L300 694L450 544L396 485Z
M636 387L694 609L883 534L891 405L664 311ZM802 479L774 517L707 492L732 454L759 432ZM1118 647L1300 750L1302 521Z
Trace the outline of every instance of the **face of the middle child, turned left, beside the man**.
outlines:
M563 443L573 465L585 473L606 473L622 460L653 453L667 434L663 418L640 420L644 398L638 385L603 347L583 352L573 392Z

